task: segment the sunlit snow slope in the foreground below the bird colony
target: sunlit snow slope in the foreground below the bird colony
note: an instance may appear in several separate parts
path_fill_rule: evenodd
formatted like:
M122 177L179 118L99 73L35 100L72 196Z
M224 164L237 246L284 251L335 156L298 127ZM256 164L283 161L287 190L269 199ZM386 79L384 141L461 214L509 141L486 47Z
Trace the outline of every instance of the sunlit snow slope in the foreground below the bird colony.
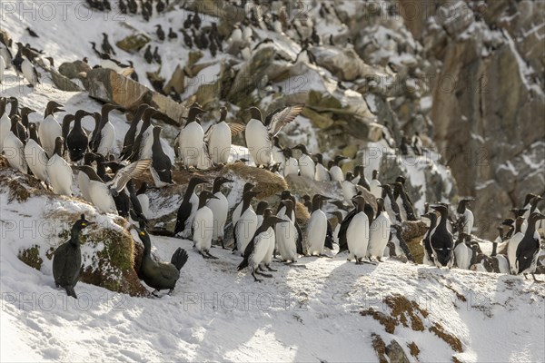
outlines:
M193 245L158 237L153 243L163 260ZM274 264L274 278L256 283L236 272L239 256L214 249L219 260L190 251L172 296L131 298L80 283L74 300L54 289L50 274L16 258L19 244L13 233L3 236L2 361L375 361L373 333L386 343L395 338L409 357L407 344L415 342L420 361L545 358L545 286L521 277L395 260L356 266L337 257L302 259L306 268ZM423 331L398 321L389 334L361 315L372 309L395 317L387 302L397 295L429 314L406 312L411 327L416 311ZM462 351L433 326L459 338Z

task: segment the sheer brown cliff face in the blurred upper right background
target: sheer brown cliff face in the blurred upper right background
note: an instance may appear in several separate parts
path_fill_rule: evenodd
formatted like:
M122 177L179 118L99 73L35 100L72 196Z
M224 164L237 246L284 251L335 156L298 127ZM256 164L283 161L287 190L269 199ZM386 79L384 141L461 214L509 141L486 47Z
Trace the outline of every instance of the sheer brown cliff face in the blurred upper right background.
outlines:
M545 192L545 3L414 3L399 10L434 75L433 140L491 237L507 207Z

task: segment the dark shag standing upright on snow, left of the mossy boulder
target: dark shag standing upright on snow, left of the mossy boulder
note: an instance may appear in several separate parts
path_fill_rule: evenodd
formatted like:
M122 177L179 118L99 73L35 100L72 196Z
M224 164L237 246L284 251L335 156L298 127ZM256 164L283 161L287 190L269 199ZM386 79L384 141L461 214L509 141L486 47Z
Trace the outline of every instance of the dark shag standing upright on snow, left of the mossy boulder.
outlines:
M84 214L81 219L75 221L70 233L70 240L60 245L53 255L53 278L54 284L66 290L68 296L77 299L74 287L79 280L82 268L82 251L80 250L80 232L90 225L92 221L85 220Z

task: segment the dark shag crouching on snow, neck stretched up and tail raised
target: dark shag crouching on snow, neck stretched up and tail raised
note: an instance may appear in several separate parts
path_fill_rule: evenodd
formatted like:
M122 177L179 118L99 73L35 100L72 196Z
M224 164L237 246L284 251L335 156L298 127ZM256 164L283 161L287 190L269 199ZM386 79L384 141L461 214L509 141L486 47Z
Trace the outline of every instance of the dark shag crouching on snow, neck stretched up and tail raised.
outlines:
M168 294L173 292L176 286L176 281L180 279L180 270L187 262L187 251L178 247L174 250L170 262L159 261L152 259L152 241L150 235L144 229L144 223L140 223L140 228L135 228L138 231L138 238L144 244L144 256L140 265L140 276L142 280L151 288L154 288L152 294L157 296L157 292L162 289L169 289Z

